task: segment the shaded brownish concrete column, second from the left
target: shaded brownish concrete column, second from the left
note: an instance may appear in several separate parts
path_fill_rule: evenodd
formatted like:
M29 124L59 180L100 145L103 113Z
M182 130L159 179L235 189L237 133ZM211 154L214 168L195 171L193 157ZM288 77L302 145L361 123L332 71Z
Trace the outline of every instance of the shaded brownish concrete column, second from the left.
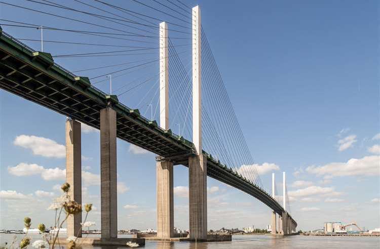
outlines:
M100 198L101 237L118 237L118 195L116 170L116 111L100 110Z

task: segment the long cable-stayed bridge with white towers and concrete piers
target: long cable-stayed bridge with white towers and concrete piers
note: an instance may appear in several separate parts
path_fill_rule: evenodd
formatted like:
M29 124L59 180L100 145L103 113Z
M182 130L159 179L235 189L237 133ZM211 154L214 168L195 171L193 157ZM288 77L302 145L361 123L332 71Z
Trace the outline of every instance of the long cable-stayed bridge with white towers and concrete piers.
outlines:
M289 205L285 205L288 201L285 177L283 204L276 198L274 184L272 194L263 189L206 32L202 28L198 6L189 8L180 1L167 1L165 4L154 1L156 5L151 5L134 0L136 4L149 9L149 14L142 14L98 0L94 0L97 6L75 0L91 9L91 12L62 6L52 1L28 0L28 2L123 26L117 28L116 25L100 24L100 21L89 22L52 12L45 14L57 18L69 18L70 21L80 22L85 27L96 26L108 31L58 28L8 19L2 19L1 23L3 29L9 27L41 30L41 39L32 39L14 38L2 29L0 87L68 117L66 178L72 186L71 195L74 199L81 199L81 122L100 130L102 238L117 237L116 138L158 155L156 166L158 237L173 237L173 165L176 164L189 168L191 239L207 239L206 176L240 189L269 206L273 210L272 227L277 226L279 234L287 235L295 231L297 223L289 214ZM2 3L10 8L44 14L36 8ZM94 9L97 12L94 12ZM152 13L155 12L165 14L171 21L162 22L164 20L153 16ZM161 23L158 25L157 22ZM95 35L105 40L121 40L122 44L110 42L94 44L90 41L59 39L44 41L43 31L45 34L47 31L56 31L82 36ZM184 37L171 36L169 32L183 34ZM41 50L37 51L25 45L23 41L27 40L41 43ZM187 44L178 40L186 40ZM188 41L191 43L188 44ZM118 49L54 55L46 51L46 44L49 43L60 46L70 44L78 47L94 46L97 49L99 47ZM141 46L141 43L144 43L144 46ZM186 46L191 49L178 51ZM148 57L152 54L156 58L149 60ZM186 55L192 57L186 58ZM105 60L103 58L119 56L133 57L137 60L130 59L111 65L99 64L72 72L55 62L64 58L73 60L72 63L75 63L75 60L94 60L94 58L103 62ZM156 65L158 68L149 68L151 65ZM115 87L115 78L127 77L127 74L129 77L137 71L140 75L133 75L136 76L134 80ZM77 75L87 72L93 76ZM104 84L103 90L95 87L100 84ZM122 101L125 96L128 96L128 100ZM137 103L134 105L145 109L144 114L136 108L128 107L133 99ZM149 110L150 118L146 118L149 117ZM159 123L155 121L156 117L160 120ZM176 129L178 134L173 132ZM276 214L281 222L278 225L276 225ZM72 217L68 223L69 234L78 233L81 221L81 217ZM276 229L272 231L276 234Z

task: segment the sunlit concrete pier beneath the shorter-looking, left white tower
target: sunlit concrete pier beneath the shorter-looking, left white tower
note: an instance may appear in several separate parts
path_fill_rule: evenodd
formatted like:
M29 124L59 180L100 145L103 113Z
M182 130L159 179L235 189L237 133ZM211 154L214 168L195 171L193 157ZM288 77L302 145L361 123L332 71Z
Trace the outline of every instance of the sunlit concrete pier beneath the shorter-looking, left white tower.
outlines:
M174 237L173 162L158 161L157 169L157 237Z

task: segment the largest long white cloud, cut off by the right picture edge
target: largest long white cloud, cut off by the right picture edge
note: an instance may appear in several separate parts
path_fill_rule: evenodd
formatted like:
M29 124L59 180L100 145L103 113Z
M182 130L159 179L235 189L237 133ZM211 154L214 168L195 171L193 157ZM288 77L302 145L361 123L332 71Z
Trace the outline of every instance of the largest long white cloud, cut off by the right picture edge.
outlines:
M310 166L306 171L325 179L340 176L378 176L380 156L372 155L363 158L352 158L347 162L331 162L323 166Z

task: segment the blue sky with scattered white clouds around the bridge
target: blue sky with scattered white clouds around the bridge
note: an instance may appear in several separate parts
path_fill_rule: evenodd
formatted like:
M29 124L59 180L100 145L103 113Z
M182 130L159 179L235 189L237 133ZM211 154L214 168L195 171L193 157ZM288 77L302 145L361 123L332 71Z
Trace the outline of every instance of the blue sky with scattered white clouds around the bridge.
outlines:
M24 0L5 2L81 20L95 20ZM90 10L71 0L54 2ZM129 1L112 2L175 22ZM145 2L154 5L151 1ZM248 147L263 173L260 177L264 186L270 190L270 173L273 171L281 194L281 173L287 172L291 212L299 228L321 228L325 221L356 221L361 227L380 227L378 2L185 3L201 7L202 25ZM37 25L97 29L4 4L0 5L0 16ZM121 28L99 20L96 23ZM2 27L14 37L40 39L39 30ZM102 28L98 30L104 31ZM176 35L180 36L173 33ZM44 39L110 43L102 37L46 30ZM111 42L122 44L121 41ZM33 49L40 49L38 42L25 43ZM176 41L177 45L185 43ZM83 46L44 43L44 51L53 55L101 50L120 48L84 49ZM178 52L185 51L178 48ZM154 54L142 58L57 58L55 61L67 69L78 70L155 56L158 58L158 54ZM189 58L190 52L181 54L186 70L189 69ZM83 75L94 77L109 70L86 71ZM115 78L112 83L114 88L120 88L126 81L138 79L144 73L157 72L158 66L154 64L144 72ZM109 87L105 77L92 82L104 79L96 86L107 92ZM154 81L149 82L134 94L119 99L127 106L139 107L149 117L147 101L140 105L138 102L145 92L154 89L154 84ZM22 218L26 215L35 221L34 224L50 224L54 214L52 211L46 213L46 209L51 199L59 194L54 186L64 181L65 117L3 90L0 94L0 228L22 228ZM153 95L147 99L156 100ZM156 101L152 103L155 105ZM172 129L177 130L176 127ZM156 228L155 155L120 140L117 146L119 228ZM97 131L84 128L82 154L86 172L84 202L93 202L99 208ZM48 170L55 168L58 169ZM22 169L30 171L25 173ZM176 166L174 173L174 225L187 229L187 168ZM261 202L213 179L208 179L208 187L210 229L252 224L264 227L270 223L270 210ZM99 226L99 210L94 211L90 219Z

